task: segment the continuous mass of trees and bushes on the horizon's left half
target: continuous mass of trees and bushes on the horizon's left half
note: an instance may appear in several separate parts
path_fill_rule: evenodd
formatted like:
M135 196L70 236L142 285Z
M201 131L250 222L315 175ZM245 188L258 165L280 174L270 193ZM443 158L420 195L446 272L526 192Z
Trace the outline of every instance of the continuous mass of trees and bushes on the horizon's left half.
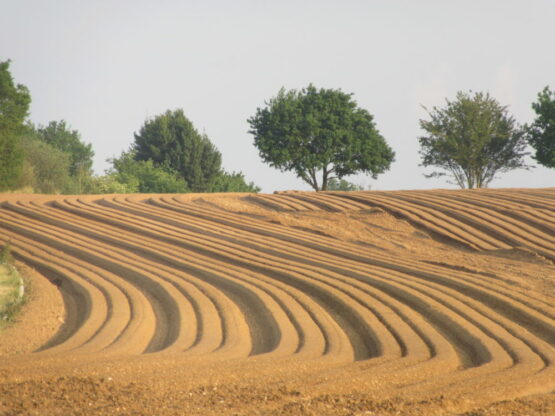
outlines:
M94 151L64 120L35 126L29 90L0 62L0 192L103 194L259 192L242 172L222 168L222 155L182 110L146 120L134 143L92 170Z

